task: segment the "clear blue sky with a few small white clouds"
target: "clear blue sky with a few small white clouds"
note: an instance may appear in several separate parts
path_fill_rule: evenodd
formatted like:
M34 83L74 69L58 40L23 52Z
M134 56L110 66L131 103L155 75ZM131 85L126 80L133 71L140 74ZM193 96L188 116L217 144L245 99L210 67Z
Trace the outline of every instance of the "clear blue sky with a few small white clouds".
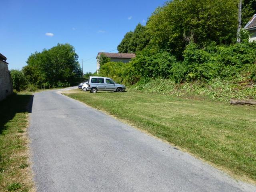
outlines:
M70 43L84 62L84 72L96 71L96 55L117 48L166 0L2 0L0 53L9 69L21 69L31 53L58 43ZM117 51L113 51L117 52Z

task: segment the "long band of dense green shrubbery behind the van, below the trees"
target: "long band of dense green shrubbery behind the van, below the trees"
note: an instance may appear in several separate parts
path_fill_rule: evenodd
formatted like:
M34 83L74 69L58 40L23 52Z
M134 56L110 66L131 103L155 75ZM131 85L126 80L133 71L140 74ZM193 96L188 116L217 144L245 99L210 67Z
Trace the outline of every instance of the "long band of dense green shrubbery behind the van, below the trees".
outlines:
M194 43L186 46L184 60L166 51L145 48L130 63L107 62L100 75L110 76L118 82L135 84L140 78L170 78L177 82L209 81L214 78L229 80L247 74L255 81L256 43L244 42L230 46L211 44L198 48Z

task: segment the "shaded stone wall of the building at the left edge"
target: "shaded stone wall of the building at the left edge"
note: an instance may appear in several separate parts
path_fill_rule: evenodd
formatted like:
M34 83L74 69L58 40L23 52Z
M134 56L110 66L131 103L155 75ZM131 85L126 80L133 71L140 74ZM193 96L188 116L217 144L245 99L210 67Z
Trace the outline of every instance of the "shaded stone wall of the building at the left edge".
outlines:
M0 60L0 101L12 94L12 81L8 64Z

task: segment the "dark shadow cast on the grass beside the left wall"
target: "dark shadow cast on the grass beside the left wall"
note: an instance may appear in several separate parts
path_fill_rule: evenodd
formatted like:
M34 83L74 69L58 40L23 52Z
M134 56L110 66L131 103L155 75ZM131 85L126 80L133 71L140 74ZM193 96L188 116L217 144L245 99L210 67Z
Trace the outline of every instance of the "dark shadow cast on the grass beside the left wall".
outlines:
M0 134L6 129L5 124L14 118L15 114L32 112L33 95L12 94L0 101Z

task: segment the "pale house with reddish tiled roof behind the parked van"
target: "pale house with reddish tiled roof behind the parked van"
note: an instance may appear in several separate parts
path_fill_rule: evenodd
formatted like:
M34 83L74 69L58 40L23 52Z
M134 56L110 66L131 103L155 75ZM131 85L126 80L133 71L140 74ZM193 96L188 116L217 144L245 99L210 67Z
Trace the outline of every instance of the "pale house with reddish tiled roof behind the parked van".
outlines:
M100 56L105 55L106 57L110 58L110 61L113 62L123 62L128 63L132 58L135 58L136 55L134 53L106 53L106 52L99 52L96 59L97 59L97 71L100 69Z

